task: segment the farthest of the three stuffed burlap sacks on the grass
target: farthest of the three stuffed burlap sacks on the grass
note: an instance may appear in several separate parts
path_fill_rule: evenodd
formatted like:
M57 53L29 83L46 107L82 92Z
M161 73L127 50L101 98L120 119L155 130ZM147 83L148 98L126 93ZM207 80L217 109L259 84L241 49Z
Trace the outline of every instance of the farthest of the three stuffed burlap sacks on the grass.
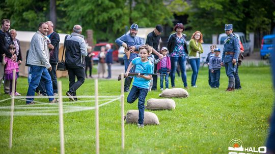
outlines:
M164 89L161 94L159 94L160 97L188 97L189 94L185 89L182 88L172 88L172 89Z

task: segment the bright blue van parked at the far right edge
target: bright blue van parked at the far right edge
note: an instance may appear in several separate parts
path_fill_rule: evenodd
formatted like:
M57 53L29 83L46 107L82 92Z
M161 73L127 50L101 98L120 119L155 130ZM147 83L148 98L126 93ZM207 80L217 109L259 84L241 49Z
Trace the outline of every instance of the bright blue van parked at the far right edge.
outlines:
M266 55L272 52L274 47L274 45L272 44L272 39L274 38L275 38L275 34L263 36L261 50L260 50L261 59L267 58Z

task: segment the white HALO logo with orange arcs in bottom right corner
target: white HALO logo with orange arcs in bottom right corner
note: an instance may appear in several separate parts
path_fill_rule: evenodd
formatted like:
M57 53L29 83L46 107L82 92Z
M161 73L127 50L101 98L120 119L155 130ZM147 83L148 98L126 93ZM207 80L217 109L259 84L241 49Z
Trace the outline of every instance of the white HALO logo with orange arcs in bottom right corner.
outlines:
M266 146L259 146L258 149L255 147L243 147L243 142L238 138L234 138L230 140L228 150L230 150L228 154L248 154L245 152L266 153Z

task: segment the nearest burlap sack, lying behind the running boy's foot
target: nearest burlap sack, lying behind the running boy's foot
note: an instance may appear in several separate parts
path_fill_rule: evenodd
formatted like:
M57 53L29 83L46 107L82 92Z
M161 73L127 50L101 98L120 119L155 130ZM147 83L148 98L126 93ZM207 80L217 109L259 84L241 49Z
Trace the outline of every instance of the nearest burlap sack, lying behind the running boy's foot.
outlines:
M127 124L137 124L139 120L139 110L128 110L126 114ZM144 112L144 125L159 125L158 118L155 113Z

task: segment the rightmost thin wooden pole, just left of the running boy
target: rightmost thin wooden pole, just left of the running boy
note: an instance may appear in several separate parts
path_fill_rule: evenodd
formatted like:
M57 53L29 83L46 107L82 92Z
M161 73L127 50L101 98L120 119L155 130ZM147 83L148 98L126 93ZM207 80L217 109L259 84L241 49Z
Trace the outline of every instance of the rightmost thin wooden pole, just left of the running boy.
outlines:
M124 74L121 73L121 147L124 149Z

